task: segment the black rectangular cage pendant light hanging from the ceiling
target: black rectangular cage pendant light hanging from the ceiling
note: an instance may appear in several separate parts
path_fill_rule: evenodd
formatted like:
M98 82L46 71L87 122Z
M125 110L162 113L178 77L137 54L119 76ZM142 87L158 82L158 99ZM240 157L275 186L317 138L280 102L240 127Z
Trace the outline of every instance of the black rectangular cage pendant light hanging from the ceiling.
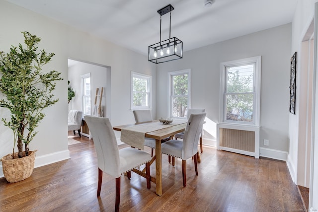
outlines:
M160 15L160 42L148 47L148 61L159 64L181 59L183 56L183 43L176 37L171 38L171 4L159 9ZM161 16L170 12L169 39L161 41Z

